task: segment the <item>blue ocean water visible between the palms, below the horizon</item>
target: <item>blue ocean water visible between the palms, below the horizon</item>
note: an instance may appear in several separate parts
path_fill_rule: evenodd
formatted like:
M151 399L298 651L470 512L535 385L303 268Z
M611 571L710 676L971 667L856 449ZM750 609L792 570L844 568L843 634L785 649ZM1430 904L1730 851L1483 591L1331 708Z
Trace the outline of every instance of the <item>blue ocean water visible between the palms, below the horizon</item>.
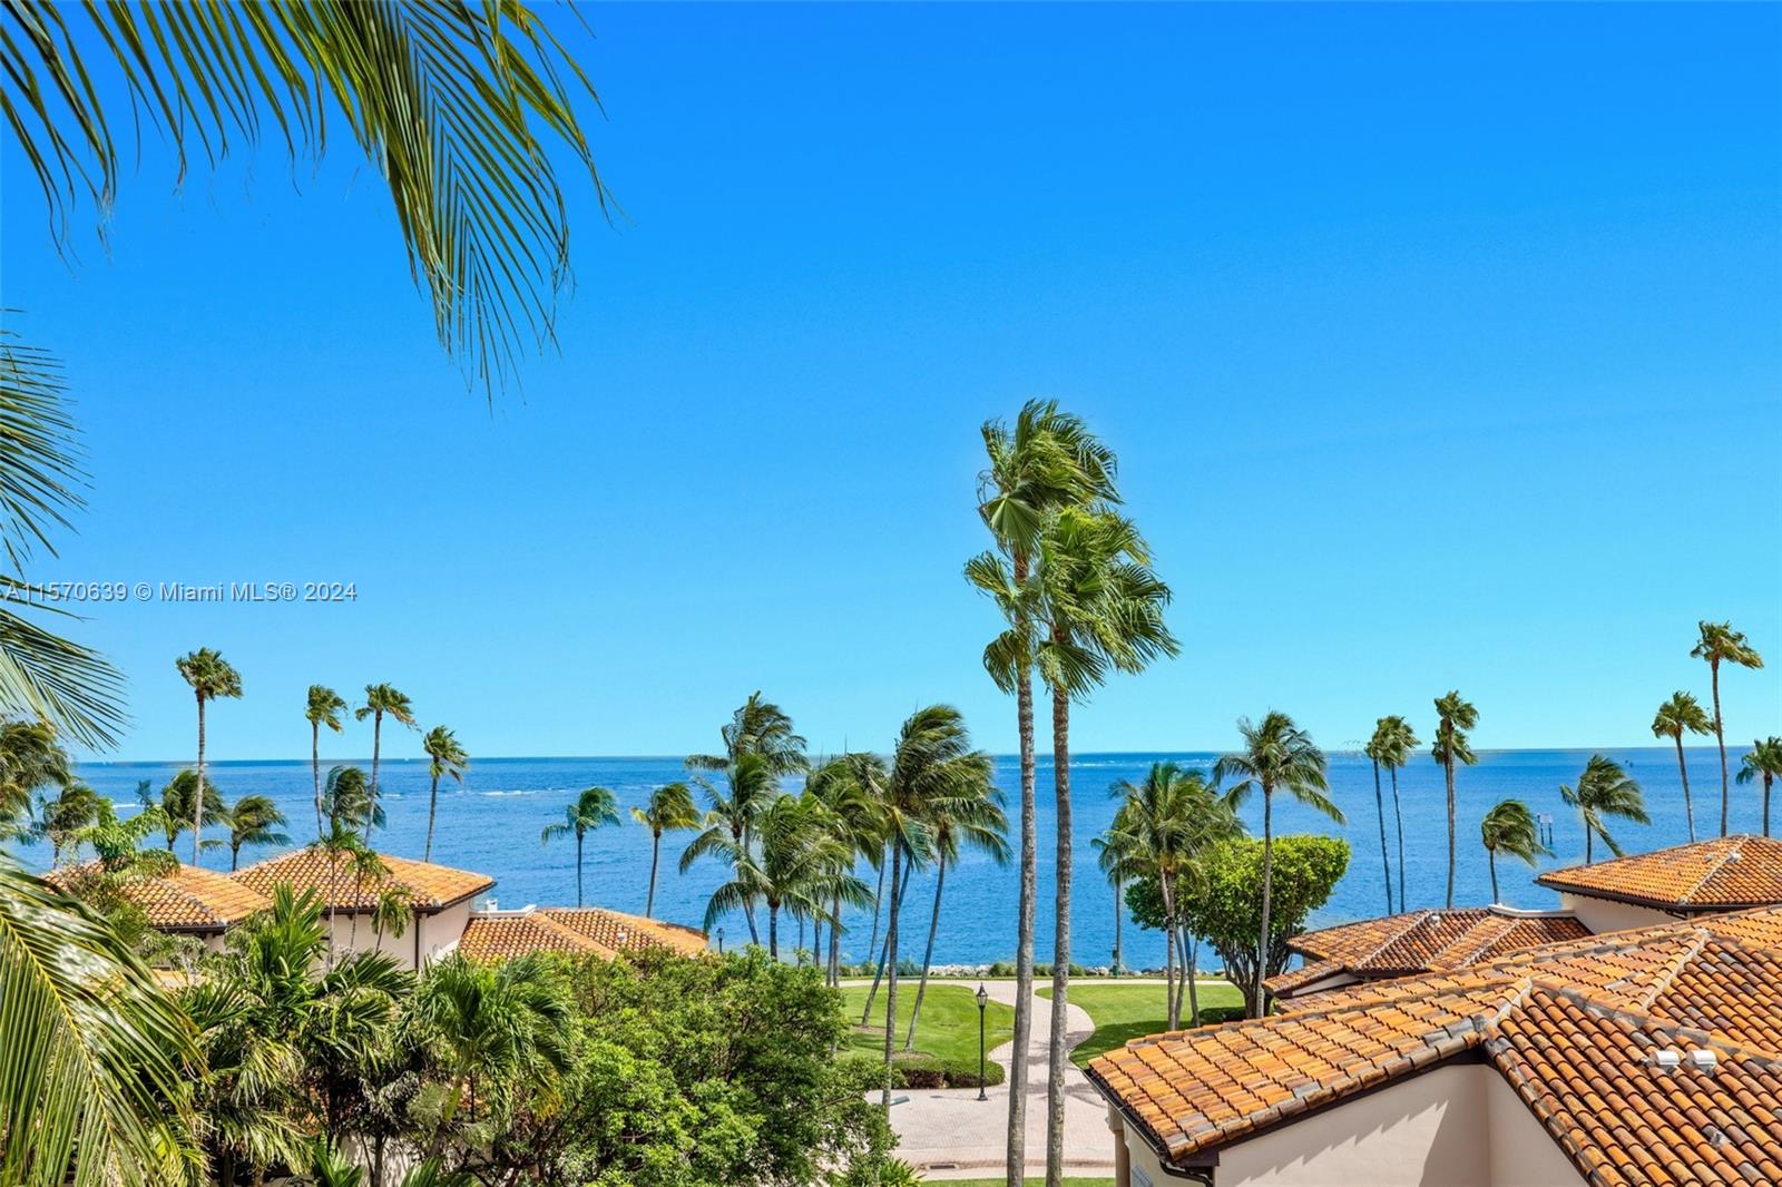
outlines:
M1729 763L1737 768L1743 747L1729 749ZM1506 797L1525 800L1536 813L1550 813L1556 857L1541 868L1582 861L1584 839L1577 816L1559 798L1559 784L1572 782L1582 770L1590 750L1497 750L1479 756L1477 766L1458 774L1458 873L1456 902L1484 904L1490 900L1490 879L1484 850L1479 847L1479 820ZM1647 797L1650 825L1616 822L1611 832L1627 852L1641 852L1688 839L1684 823L1682 788L1677 777L1675 750L1632 749L1607 754L1639 781ZM1071 790L1075 807L1075 877L1071 911L1071 957L1080 964L1107 964L1114 945L1114 893L1101 879L1089 848L1089 839L1101 832L1114 816L1110 784L1121 779L1139 781L1153 761L1176 759L1187 766L1206 768L1215 754L1083 754L1071 761ZM1720 761L1713 747L1688 750L1689 784L1695 793L1698 836L1713 836L1720 829ZM369 761L365 763L369 766ZM87 763L80 777L109 795L119 809L135 807L137 781L148 779L155 788L166 782L178 765L173 763ZM615 791L620 804L642 804L649 791L663 782L684 779L679 757L590 757L590 759L478 759L463 786L440 788L438 829L433 841L433 859L467 870L479 870L497 880L494 896L503 907L524 904L572 904L576 898L576 845L574 841L540 843L545 825L560 820L563 807L590 784ZM996 763L998 784L1009 797L1010 847L1014 845L1014 818L1018 809L1018 766L1012 757ZM290 818L289 832L296 843L314 836L312 781L307 761L216 763L210 779L223 797L257 791L271 795ZM428 823L428 770L424 761L385 761L380 779L388 829L374 839L383 852L421 857ZM1331 832L1347 838L1353 857L1349 872L1336 893L1313 918L1312 925L1338 923L1381 914L1386 909L1385 873L1379 854L1379 823L1374 809L1372 765L1360 754L1329 756L1331 795L1347 815L1347 825L1336 825L1312 809L1281 797L1276 800L1276 829L1287 832ZM1399 772L1399 793L1404 809L1404 884L1411 907L1442 905L1447 877L1447 825L1443 807L1442 768L1422 752L1406 770ZM1388 841L1397 848L1392 829L1392 793L1386 788ZM1757 832L1761 827L1761 791L1755 784L1732 784L1732 831ZM1782 804L1777 806L1782 813ZM1260 800L1246 809L1253 829L1260 829ZM1782 820L1782 816L1778 816ZM1053 807L1051 763L1039 763L1039 921L1037 952L1046 961L1053 934ZM700 925L706 898L723 880L715 861L697 863L686 873L677 872L681 847L688 834L663 838L663 868L656 893L656 913L661 918ZM180 839L182 855L191 843ZM242 850L242 863L258 861L276 850ZM1602 854L1598 847L1598 855ZM48 861L46 847L25 848L29 864ZM210 868L226 870L228 852L205 854ZM584 852L586 900L617 911L643 911L649 889L650 838L629 816L620 825L601 829L588 836ZM871 882L873 872L862 868ZM1516 863L1499 863L1499 884L1504 902L1516 907L1554 907L1557 896L1533 884L1534 870ZM920 955L927 937L932 907L934 873L920 875L903 907L905 952ZM980 854L966 854L960 864L946 875L946 893L941 904L941 930L936 943L937 962L987 962L1014 955L1016 870L998 866ZM740 916L716 921L725 943L747 939L747 925ZM764 927L764 921L763 921ZM871 921L864 913L850 913L843 936L843 954L848 961L866 959L866 941ZM797 939L797 925L782 923L782 943ZM1128 966L1160 966L1162 937L1142 932L1128 923L1124 929Z

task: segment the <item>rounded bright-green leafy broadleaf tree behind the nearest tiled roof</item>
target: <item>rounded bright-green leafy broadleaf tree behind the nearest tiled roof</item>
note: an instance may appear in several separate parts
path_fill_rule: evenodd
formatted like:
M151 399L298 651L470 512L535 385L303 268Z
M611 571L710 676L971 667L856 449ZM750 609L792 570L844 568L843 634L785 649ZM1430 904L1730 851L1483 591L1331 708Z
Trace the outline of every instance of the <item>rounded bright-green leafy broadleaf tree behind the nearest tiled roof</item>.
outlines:
M1287 970L1287 941L1304 930L1306 916L1329 898L1349 868L1349 845L1333 836L1283 836L1274 841L1272 900L1267 932L1262 929L1263 843L1244 838L1214 845L1201 859L1201 886L1189 896L1183 923L1205 936L1221 955L1226 977L1244 993L1246 1011L1260 1018L1267 1002L1262 982ZM1140 898L1133 886L1128 902ZM1137 916L1135 916L1137 918ZM1267 934L1267 957L1256 936ZM1258 975L1260 971L1260 975Z

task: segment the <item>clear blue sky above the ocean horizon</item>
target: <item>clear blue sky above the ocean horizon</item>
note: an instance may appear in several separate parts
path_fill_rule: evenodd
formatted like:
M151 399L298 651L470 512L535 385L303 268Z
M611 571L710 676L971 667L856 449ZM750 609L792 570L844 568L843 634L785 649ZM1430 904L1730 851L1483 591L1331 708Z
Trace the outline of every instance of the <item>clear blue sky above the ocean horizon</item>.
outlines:
M1178 595L1082 750L1269 708L1338 747L1454 686L1481 747L1650 741L1700 617L1771 659L1730 736L1782 731L1782 9L586 12L627 217L572 194L561 353L494 408L347 153L173 192L151 144L69 266L7 141L4 303L94 471L37 576L358 592L94 611L118 757L191 749L198 645L248 688L219 757L303 754L312 681L485 756L704 749L754 688L822 749L952 700L1010 750L959 569L978 424L1035 394Z

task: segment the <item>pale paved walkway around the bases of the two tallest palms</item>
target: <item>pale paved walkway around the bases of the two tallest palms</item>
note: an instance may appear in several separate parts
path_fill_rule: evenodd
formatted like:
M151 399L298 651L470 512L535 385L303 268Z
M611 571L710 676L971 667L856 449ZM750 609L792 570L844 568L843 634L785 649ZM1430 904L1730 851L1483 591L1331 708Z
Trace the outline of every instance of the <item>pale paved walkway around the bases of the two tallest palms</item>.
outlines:
M1035 986L1050 986L1050 980ZM1012 980L985 984L991 1000L1014 1005ZM1094 1023L1078 1005L1067 1005L1069 1044L1075 1048L1089 1037ZM1034 995L1034 1041L1028 1050L1026 1082L1026 1173L1046 1173L1046 1036L1051 1028L1051 1002ZM1014 1044L1003 1043L989 1053L991 1060L1009 1071ZM1108 1132L1108 1110L1083 1073L1066 1068L1064 1084L1064 1169L1069 1175L1112 1175L1114 1135ZM902 1105L891 1109L891 1128L896 1130L896 1155L923 1173L923 1178L994 1178L1003 1171L1009 1153L1009 1080L989 1089L989 1100L978 1100L973 1089L905 1089Z

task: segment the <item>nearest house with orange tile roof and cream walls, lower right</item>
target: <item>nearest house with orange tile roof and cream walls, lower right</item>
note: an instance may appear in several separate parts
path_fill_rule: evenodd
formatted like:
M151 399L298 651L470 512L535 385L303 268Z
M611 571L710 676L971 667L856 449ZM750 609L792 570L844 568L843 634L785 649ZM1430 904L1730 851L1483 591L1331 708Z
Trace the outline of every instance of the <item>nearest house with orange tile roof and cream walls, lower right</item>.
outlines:
M1116 1185L1782 1183L1782 909L1315 996L1096 1059Z

